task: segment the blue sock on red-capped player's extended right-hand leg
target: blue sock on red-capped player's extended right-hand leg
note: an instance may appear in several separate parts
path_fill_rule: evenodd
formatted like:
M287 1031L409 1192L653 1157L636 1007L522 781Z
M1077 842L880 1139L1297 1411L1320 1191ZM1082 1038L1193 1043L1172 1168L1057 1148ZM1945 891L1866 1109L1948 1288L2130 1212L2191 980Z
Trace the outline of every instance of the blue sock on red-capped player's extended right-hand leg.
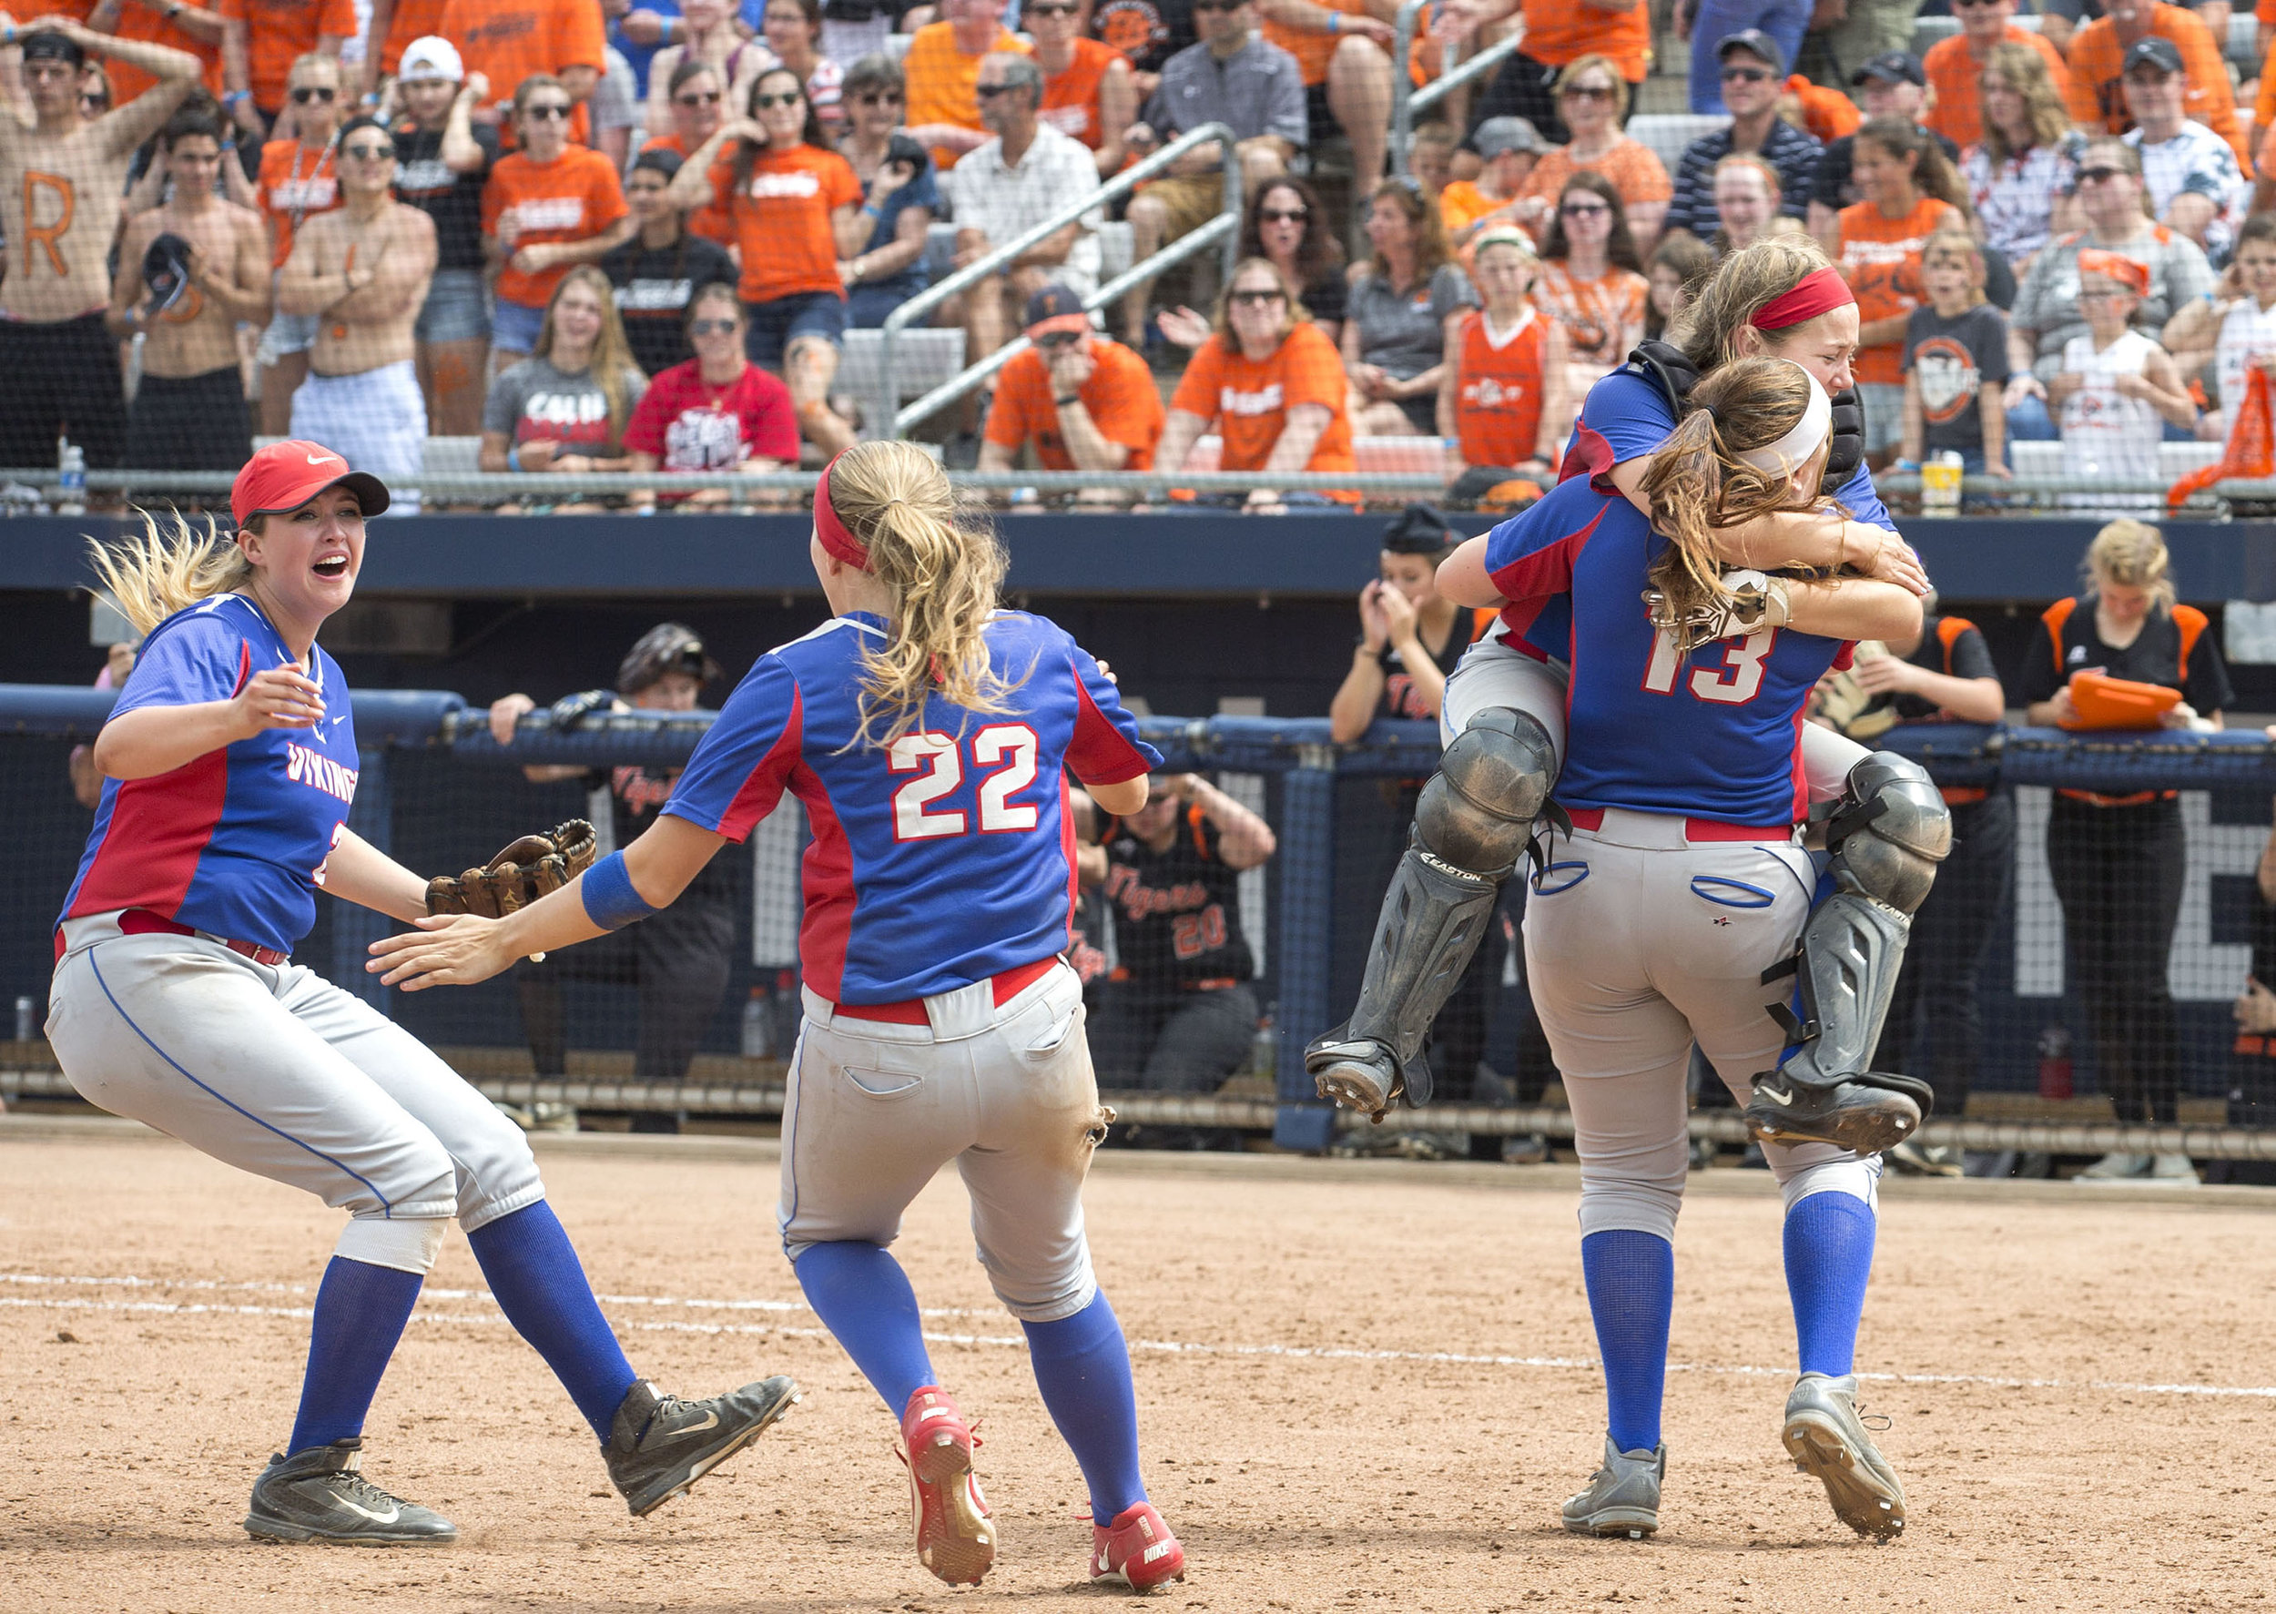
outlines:
M498 1311L530 1341L594 1436L608 1441L617 1407L640 1380L592 1298L585 1263L553 1207L539 1200L467 1234Z

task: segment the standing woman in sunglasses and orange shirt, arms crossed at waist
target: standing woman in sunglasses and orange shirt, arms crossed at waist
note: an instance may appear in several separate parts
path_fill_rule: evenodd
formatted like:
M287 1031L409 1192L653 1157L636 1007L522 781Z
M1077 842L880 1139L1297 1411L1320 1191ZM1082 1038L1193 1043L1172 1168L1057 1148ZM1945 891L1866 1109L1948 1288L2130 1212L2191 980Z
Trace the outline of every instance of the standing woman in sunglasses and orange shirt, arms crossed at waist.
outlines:
M501 355L530 353L562 275L633 237L617 166L569 143L571 112L567 87L551 73L521 80L521 150L501 157L483 187L483 250L498 266L489 346Z

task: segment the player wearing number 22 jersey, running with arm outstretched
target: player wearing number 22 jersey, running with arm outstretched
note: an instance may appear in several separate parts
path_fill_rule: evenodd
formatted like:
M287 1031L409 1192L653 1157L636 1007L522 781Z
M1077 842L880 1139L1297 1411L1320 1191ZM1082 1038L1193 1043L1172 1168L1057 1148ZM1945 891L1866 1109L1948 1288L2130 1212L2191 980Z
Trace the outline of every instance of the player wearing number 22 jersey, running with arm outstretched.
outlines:
M776 1220L815 1314L901 1421L917 1555L972 1584L997 1550L972 1430L885 1252L956 1161L981 1263L1090 1487L1090 1575L1145 1591L1181 1578L1186 1555L1138 1475L1129 1350L1090 1273L1081 1188L1106 1113L1061 954L1067 774L1129 815L1161 756L1074 640L997 610L1004 553L958 526L924 451L838 455L815 492L813 562L838 615L758 658L655 826L505 920L373 942L371 967L405 988L469 983L630 924L790 790L815 838Z

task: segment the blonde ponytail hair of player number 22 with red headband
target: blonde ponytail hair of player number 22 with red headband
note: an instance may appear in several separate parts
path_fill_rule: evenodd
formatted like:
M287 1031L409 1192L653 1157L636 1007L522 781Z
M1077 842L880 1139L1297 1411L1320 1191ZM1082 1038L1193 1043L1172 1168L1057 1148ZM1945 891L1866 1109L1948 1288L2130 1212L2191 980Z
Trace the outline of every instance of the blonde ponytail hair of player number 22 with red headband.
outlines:
M899 601L885 649L863 656L853 744L892 744L924 717L933 690L967 713L1004 713L1017 683L988 665L988 617L1004 585L1004 546L958 508L924 448L865 442L831 462L831 508L869 551L869 576Z

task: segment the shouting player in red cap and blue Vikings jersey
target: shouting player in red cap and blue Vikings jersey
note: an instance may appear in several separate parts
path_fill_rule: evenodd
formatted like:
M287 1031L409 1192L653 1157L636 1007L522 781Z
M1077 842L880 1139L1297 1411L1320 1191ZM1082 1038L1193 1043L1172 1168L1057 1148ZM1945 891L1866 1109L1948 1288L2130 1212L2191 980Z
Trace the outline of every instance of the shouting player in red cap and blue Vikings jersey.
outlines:
M246 1530L442 1546L457 1527L360 1473L362 1427L448 1218L508 1323L646 1514L797 1400L785 1377L701 1402L640 1380L544 1200L521 1131L360 997L289 961L316 890L396 920L428 883L348 829L355 717L316 644L348 603L378 478L312 442L262 448L237 535L184 524L96 569L146 633L96 738L102 801L57 922L48 1040L93 1104L348 1211L316 1291L307 1377Z

